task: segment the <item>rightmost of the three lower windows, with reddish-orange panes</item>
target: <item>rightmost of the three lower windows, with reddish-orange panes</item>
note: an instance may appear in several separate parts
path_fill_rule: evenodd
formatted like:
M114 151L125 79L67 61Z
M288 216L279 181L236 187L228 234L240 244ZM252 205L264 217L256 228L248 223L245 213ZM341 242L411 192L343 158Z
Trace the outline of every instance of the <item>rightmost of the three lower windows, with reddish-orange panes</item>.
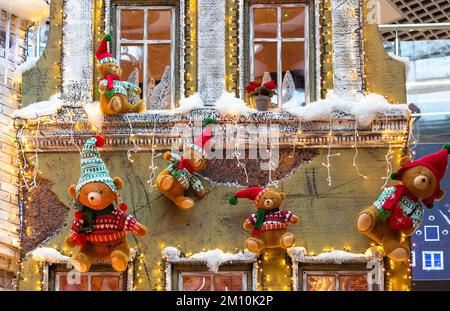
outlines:
M369 291L372 286L364 271L304 271L305 291Z

